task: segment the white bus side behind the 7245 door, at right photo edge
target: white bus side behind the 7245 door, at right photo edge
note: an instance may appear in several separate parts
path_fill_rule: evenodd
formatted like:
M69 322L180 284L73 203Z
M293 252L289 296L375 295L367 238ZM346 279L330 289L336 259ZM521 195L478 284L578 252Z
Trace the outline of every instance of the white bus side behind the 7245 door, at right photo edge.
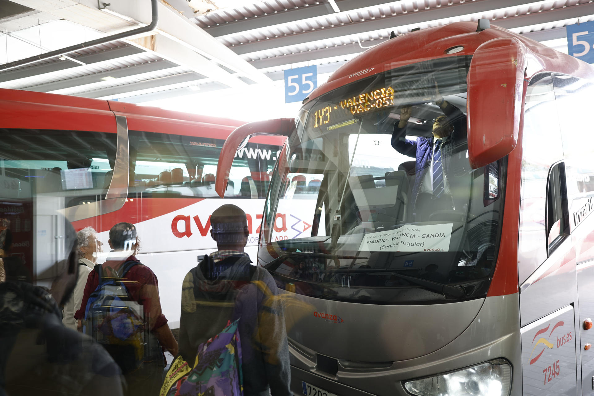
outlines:
M592 130L589 101L593 86L585 80L567 75L554 75L553 83L565 156L569 227L576 257L579 315L576 331L582 360L582 394L594 393L594 148L589 135Z

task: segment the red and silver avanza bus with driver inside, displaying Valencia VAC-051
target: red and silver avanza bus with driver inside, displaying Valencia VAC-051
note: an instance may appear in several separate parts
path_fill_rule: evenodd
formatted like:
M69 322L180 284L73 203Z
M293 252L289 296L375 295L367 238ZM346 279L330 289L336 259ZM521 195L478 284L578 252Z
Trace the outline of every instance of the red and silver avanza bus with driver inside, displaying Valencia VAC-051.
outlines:
M241 142L287 137L258 264L286 292L295 394L594 393L594 68L486 22L393 37L225 142L221 196ZM416 199L419 151L392 146L407 107L402 133L431 138L441 97L465 121L451 208ZM279 238L303 201L311 227Z

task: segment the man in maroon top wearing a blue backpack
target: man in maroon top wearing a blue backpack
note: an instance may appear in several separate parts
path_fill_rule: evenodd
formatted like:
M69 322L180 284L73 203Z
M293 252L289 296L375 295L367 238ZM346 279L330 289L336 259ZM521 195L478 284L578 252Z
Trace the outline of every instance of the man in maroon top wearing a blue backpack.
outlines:
M118 363L127 395L156 395L165 368L162 347L175 356L178 343L161 310L157 277L135 257L134 224L113 226L108 243L112 251L89 274L75 318Z

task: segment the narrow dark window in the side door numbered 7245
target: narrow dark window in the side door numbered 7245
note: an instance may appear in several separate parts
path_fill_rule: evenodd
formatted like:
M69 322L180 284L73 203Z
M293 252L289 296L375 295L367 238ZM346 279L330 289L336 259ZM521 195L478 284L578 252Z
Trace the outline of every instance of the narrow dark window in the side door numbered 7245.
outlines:
M569 213L565 188L565 163L560 162L551 167L546 186L546 236L549 256L568 235Z

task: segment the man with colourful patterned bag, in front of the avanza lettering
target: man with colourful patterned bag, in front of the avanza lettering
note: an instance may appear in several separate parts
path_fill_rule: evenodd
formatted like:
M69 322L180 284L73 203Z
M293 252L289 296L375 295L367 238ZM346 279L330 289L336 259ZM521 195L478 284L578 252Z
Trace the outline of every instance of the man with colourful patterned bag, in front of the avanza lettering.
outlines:
M268 271L244 252L245 213L222 205L210 223L219 250L184 279L180 354L160 395L289 396L282 302Z

